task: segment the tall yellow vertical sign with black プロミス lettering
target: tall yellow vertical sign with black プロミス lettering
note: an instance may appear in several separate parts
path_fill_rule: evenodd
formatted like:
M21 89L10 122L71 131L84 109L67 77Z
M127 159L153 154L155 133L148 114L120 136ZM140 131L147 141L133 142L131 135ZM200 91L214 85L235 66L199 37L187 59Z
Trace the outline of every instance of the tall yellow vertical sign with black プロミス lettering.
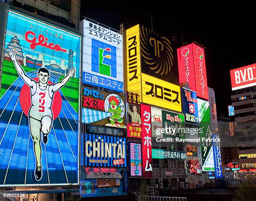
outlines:
M125 81L127 91L137 93L141 97L141 55L139 25L126 30L127 69Z

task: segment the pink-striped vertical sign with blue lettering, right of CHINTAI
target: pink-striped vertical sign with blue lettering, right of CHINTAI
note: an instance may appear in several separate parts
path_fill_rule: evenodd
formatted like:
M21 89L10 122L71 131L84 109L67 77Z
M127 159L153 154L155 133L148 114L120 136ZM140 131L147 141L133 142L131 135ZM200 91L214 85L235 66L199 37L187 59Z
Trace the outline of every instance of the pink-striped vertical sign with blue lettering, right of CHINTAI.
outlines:
M140 143L130 143L130 170L131 176L142 176L142 158Z

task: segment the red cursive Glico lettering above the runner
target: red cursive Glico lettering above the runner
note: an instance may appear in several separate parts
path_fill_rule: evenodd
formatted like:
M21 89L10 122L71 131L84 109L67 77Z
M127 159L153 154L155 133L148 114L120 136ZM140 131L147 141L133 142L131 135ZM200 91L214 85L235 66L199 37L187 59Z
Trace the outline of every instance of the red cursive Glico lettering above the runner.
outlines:
M33 36L33 39L30 39L31 36ZM38 35L38 39L35 37L36 33L34 33L33 31L27 31L25 33L25 40L30 44L30 48L32 50L34 50L36 48L36 46L42 46L42 47L46 47L49 48L51 50L55 50L55 51L62 51L62 52L67 52L67 50L62 49L61 46L55 44L54 43L47 43L48 38L45 38L43 34L39 34ZM36 39L38 40L38 42L36 42Z

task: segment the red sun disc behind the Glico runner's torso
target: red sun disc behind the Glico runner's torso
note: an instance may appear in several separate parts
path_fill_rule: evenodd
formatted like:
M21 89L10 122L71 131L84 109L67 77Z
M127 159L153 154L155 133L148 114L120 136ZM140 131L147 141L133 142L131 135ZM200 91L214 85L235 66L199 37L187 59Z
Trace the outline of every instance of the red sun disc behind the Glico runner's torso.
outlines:
M38 81L38 77L32 78L35 81ZM51 81L48 81L48 84L53 84ZM54 99L51 105L51 110L53 112L53 117L55 120L61 111L61 105L62 105L62 100L61 100L61 95L58 92L54 93ZM24 114L28 116L28 110L31 107L31 93L30 93L30 87L28 87L27 84L24 84L23 87L20 90L20 106L21 109L23 110Z

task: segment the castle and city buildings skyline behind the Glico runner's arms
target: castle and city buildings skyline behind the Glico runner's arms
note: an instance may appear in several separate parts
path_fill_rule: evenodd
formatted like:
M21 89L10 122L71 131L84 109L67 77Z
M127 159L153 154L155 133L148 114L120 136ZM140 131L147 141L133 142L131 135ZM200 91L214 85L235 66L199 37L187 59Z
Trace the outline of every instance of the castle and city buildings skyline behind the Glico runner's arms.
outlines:
M50 71L50 73L62 74L66 75L70 69L73 68L73 51L69 50L69 64L65 65L64 59L60 60L60 64L57 63L56 60L51 59L47 62L44 59L43 54L38 54L38 57L32 56L30 54L26 54L22 52L22 48L20 46L20 41L17 36L11 38L11 41L8 44L8 47L5 49L5 57L6 61L11 61L10 56L8 54L9 50L13 50L17 56L18 62L20 65L27 66L33 69L39 69L41 67L45 67Z

